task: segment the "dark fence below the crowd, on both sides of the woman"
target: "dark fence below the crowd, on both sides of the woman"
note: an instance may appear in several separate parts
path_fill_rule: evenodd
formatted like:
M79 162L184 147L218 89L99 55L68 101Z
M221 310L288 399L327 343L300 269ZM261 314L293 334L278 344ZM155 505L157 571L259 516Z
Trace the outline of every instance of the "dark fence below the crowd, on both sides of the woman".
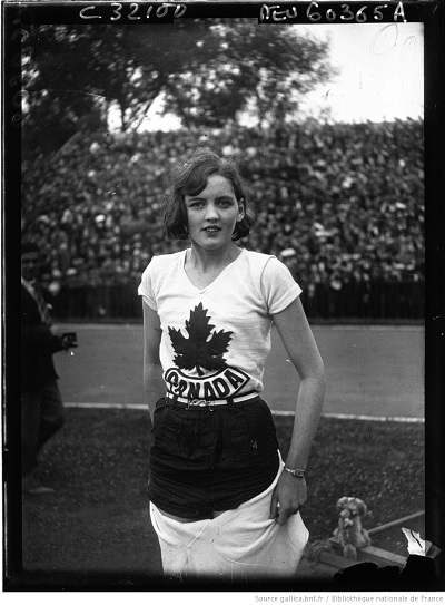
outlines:
M65 285L53 300L59 320L141 320L138 281L108 285ZM312 320L423 320L423 282L345 283L338 290L314 284L301 294Z

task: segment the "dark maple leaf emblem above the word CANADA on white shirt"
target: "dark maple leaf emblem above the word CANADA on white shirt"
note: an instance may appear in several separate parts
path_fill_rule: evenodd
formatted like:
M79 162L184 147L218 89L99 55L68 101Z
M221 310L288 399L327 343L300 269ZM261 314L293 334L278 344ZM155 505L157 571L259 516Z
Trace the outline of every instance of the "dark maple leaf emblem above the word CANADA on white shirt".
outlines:
M196 368L199 375L204 374L202 368L206 370L227 368L222 354L227 352L233 334L233 332L220 330L214 332L209 339L215 325L209 323L210 316L207 315L207 311L202 308L202 303L190 311L190 319L186 320L188 338L184 336L181 331L176 328L168 329L176 352L175 363L184 370Z

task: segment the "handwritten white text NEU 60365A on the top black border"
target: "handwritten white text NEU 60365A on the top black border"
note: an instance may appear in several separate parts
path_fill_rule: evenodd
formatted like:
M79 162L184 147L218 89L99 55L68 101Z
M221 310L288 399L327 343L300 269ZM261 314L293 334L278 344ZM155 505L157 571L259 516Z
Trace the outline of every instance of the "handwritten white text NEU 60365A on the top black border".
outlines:
M368 7L366 4L362 7L350 7L350 4L337 4L332 7L322 8L318 2L310 2L307 7L286 4L263 4L259 13L259 22L279 22L290 21L298 23L316 23L320 21L323 23L355 21L357 23L365 23L366 21L388 21L388 18L394 21L406 22L405 11L403 2L394 4L378 4L376 7ZM390 11L390 16L389 16Z

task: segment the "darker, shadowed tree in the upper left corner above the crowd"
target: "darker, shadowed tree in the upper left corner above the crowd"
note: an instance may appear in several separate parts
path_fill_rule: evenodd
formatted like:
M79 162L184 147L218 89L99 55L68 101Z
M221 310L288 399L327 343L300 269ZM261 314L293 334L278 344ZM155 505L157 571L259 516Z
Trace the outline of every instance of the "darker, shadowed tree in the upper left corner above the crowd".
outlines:
M197 21L187 27L33 27L23 67L24 153L57 149L81 128L106 128L112 106L122 131L137 128L168 76L190 66L189 55L205 37Z

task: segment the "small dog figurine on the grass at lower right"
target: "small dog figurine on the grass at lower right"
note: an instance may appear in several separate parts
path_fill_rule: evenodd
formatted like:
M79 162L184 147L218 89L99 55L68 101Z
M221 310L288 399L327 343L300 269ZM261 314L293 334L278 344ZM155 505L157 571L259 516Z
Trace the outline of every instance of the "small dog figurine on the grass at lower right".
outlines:
M349 559L357 558L357 550L369 546L370 538L362 527L362 517L367 514L367 506L359 498L340 498L337 502L338 527L334 536L343 546L343 555Z

